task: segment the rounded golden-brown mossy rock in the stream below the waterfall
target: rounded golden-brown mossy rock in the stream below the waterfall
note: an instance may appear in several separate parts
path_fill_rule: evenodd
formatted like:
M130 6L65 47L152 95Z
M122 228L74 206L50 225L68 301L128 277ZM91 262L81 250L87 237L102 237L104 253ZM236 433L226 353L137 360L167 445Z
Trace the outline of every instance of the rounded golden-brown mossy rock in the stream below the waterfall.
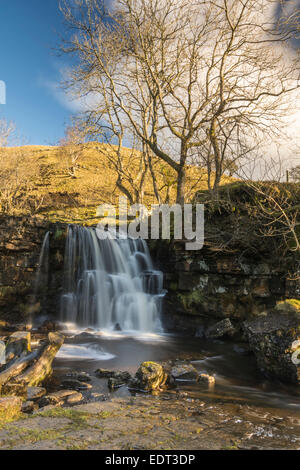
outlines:
M130 388L145 392L162 391L167 388L168 373L157 362L143 362L134 379L130 382Z

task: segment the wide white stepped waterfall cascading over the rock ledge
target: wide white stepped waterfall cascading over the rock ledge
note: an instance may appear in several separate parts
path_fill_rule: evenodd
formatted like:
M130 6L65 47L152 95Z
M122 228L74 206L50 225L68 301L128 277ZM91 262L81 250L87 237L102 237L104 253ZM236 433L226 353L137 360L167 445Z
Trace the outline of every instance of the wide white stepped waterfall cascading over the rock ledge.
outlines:
M163 274L144 240L110 237L69 226L61 319L78 326L123 331L160 329Z

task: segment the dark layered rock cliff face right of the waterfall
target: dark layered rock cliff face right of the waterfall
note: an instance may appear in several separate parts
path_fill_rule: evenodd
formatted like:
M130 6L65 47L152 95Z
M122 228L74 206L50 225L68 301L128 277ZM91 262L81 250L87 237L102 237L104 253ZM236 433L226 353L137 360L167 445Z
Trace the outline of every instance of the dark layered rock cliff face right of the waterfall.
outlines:
M187 252L180 242L152 242L156 266L165 273L166 325L194 330L218 319L240 324L276 305L278 300L300 298L299 280L288 279L276 259L214 253L204 247Z

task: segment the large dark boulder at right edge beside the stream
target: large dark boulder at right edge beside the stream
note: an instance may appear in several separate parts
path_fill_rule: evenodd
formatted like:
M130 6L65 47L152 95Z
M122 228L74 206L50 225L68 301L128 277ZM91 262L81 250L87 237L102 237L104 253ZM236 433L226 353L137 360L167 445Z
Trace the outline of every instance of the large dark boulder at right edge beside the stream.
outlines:
M290 309L244 322L259 369L269 377L300 384L300 314ZM299 353L297 352L299 351Z

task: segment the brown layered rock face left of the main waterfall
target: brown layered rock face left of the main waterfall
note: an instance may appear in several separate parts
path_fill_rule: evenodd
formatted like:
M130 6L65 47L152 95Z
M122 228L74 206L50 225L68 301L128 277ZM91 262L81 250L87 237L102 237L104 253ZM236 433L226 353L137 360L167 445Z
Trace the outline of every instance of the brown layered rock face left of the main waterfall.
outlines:
M49 276L43 295L34 285L43 239L50 231ZM55 314L63 275L65 226L30 217L0 218L0 320L22 322L31 311Z

